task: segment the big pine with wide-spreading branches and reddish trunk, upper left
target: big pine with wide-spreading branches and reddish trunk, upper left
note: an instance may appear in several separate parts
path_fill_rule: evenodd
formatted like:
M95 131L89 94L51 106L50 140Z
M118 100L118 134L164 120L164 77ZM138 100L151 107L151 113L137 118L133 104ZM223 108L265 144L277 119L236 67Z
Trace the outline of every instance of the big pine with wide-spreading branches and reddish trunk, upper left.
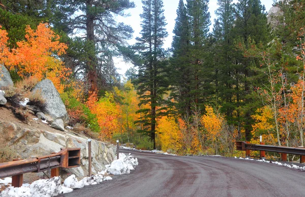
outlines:
M132 37L133 30L129 25L117 23L114 16L126 16L125 10L134 8L130 0L103 1L103 0L64 0L58 1L59 17L55 18L55 27L66 31L68 34L74 31L85 33L81 46L87 53L86 62L81 64L91 84L90 90L98 89L98 65L107 62L111 49L117 49L117 45L125 44ZM100 60L102 58L102 60Z

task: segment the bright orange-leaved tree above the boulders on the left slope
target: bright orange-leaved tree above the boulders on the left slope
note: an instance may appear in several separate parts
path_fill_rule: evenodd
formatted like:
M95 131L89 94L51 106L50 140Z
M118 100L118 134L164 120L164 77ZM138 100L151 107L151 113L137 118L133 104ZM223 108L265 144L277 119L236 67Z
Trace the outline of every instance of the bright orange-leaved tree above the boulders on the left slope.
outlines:
M56 35L49 24L40 23L37 30L26 27L24 41L17 42L17 48L7 52L7 38L4 30L0 32L1 44L4 48L0 58L9 70L17 70L22 78L35 77L39 80L50 79L58 92L63 92L64 86L61 80L67 79L70 70L65 68L62 60L58 58L66 52L66 44L59 42L59 36Z

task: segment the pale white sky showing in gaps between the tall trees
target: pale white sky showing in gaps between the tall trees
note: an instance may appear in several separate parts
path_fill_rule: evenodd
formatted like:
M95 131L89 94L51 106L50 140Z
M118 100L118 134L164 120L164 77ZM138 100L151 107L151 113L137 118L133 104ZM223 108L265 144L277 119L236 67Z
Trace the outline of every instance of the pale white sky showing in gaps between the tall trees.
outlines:
M129 24L132 26L134 30L134 38L132 40L129 40L129 44L135 43L135 38L140 37L141 32L141 18L140 14L142 13L142 1L141 0L133 0L133 2L136 5L136 8L128 10L126 13L130 13L131 16L129 17L117 17L118 22L124 22L125 24ZM185 0L186 2L186 0ZM237 2L235 0L234 2ZM273 0L261 0L262 4L265 5L266 11L269 11L269 9L272 7ZM163 0L164 4L164 16L166 18L166 29L169 34L169 36L166 38L164 42L164 48L169 48L171 46L172 37L173 37L173 29L175 26L175 18L176 18L176 10L178 8L179 0ZM214 19L216 18L215 10L217 9L217 0L210 0L209 2L209 12L211 15L211 22L214 22ZM212 29L212 25L210 27L210 30ZM128 68L130 68L132 65L126 64L121 59L114 59L115 66L117 67L117 72L121 75L124 75Z

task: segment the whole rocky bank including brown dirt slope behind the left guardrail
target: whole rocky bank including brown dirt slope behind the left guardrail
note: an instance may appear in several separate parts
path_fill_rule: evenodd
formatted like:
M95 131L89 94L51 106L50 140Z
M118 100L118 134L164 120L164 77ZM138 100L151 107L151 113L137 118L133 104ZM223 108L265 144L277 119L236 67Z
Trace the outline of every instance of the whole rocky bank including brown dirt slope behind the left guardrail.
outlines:
M59 152L60 148L77 147L81 148L81 166L62 169L60 175L63 178L71 174L75 174L78 178L88 175L88 137L75 133L73 130L65 130L64 132L55 130L42 123L41 120L33 120L30 125L26 125L17 119L14 121L15 118L9 110L2 108L0 110L0 113L4 115L0 117L0 144L9 146L10 149L16 151L18 158L26 159L49 155L53 152ZM113 145L93 139L92 172L98 173L104 170L105 165L110 164L115 158L115 150ZM27 181L26 177L25 181Z

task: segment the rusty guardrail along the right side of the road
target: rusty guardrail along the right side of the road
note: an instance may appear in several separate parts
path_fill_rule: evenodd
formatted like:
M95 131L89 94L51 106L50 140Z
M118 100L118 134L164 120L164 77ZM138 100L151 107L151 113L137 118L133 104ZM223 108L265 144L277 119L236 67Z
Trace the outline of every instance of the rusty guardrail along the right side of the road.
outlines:
M256 145L256 144L249 144L247 142L236 141L236 150L246 151L246 157L250 157L250 151L260 151L261 152L260 158L262 158L261 155L264 155L265 151L276 152L282 155L282 161L287 161L287 154L300 155L300 163L305 162L305 148Z

